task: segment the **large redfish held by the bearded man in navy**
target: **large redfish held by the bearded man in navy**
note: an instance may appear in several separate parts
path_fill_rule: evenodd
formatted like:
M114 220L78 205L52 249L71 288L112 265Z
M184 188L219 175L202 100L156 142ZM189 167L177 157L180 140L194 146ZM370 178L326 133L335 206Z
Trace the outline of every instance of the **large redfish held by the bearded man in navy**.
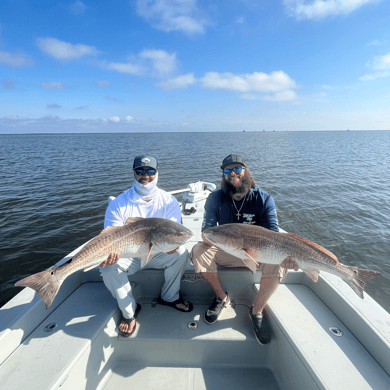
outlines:
M367 282L379 272L345 266L327 249L291 233L278 233L260 226L232 223L212 227L203 232L205 242L250 262L281 264L294 260L298 267L317 282L320 271L343 279L360 298ZM253 264L253 263L252 263Z

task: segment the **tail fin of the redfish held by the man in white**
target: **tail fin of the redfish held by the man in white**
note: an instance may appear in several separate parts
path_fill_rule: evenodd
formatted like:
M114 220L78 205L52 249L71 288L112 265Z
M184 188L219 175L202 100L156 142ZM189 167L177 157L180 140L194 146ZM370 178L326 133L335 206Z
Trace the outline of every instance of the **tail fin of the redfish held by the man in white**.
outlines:
M46 309L48 309L53 303L61 284L62 281L56 277L55 268L52 268L21 279L15 283L15 286L30 287L35 290L45 302Z

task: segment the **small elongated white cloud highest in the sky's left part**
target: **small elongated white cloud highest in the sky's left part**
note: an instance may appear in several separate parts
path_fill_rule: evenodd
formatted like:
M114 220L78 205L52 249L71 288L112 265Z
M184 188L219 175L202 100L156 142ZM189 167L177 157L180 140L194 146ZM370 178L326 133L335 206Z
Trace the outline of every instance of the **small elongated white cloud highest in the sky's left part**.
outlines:
M43 52L56 60L77 60L84 56L96 56L99 54L93 46L82 44L73 45L56 38L38 38L37 46Z

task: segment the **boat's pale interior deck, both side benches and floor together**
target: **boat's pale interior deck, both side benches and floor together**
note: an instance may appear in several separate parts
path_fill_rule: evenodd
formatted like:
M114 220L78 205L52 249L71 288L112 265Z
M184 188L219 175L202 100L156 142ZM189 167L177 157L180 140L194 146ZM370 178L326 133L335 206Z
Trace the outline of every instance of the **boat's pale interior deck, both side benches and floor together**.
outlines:
M266 347L254 337L245 303L233 301L208 325L207 299L194 301L190 313L155 299L138 299L137 329L125 338L118 335L119 309L103 283L83 284L3 364L1 388L389 387L383 368L306 286L281 285L271 298L273 341ZM330 326L344 336L333 336Z

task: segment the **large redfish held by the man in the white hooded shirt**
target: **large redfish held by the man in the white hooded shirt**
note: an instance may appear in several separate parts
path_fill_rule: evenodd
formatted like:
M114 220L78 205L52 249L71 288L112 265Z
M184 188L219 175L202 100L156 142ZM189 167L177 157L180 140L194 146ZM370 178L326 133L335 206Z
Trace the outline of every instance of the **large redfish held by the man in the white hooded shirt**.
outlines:
M104 229L65 264L19 280L15 286L34 289L48 309L69 275L96 267L111 252L118 252L120 257L140 257L144 266L154 254L171 252L192 236L191 230L168 219L129 218L123 226Z

